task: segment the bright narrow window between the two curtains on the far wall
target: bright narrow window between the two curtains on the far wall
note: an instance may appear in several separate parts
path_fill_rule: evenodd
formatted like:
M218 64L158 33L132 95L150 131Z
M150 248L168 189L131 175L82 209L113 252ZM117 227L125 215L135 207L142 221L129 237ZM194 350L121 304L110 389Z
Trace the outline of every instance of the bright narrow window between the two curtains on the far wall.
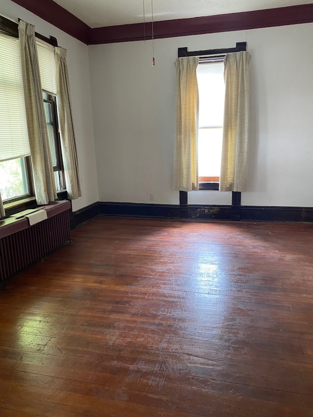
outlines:
M223 57L205 59L197 67L199 88L199 189L218 190L224 118Z

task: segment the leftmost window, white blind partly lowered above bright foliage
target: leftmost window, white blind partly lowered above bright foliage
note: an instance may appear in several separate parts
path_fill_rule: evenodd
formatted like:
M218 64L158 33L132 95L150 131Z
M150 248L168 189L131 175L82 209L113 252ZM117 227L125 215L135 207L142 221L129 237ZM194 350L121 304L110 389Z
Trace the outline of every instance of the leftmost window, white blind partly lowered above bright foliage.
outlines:
M18 39L0 33L0 192L9 203L33 196Z

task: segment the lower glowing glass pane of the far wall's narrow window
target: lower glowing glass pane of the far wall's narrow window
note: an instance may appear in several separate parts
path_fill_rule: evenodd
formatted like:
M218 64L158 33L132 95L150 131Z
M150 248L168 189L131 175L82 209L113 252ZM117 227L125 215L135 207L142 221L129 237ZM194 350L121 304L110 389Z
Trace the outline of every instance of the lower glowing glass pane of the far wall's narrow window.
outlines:
M220 176L223 128L199 129L199 176Z

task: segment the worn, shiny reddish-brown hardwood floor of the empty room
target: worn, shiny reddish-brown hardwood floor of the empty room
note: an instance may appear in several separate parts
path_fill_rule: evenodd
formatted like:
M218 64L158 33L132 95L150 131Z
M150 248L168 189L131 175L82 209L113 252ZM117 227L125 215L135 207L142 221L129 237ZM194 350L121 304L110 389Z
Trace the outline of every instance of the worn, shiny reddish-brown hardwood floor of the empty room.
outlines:
M312 417L313 224L100 217L0 292L1 417Z

